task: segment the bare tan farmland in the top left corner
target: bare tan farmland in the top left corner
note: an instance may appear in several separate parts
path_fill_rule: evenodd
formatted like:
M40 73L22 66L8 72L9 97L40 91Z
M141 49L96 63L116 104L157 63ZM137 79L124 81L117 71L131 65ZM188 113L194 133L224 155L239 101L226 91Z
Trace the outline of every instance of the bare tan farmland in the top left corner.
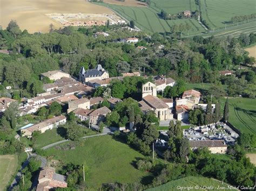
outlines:
M48 32L52 23L56 29L61 24L45 14L51 13L113 13L110 9L84 0L0 0L0 25L5 28L11 19L16 20L22 30Z

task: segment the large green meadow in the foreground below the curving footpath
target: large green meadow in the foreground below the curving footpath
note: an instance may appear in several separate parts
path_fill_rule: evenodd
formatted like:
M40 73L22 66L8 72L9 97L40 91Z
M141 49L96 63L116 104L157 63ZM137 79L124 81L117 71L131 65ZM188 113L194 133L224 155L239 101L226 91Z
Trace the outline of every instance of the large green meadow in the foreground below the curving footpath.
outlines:
M87 138L75 150L63 151L52 147L45 150L45 154L53 156L53 159L60 160L64 164L85 162L89 168L85 181L94 189L102 183L151 180L151 173L138 171L133 166L134 161L144 156L109 135Z

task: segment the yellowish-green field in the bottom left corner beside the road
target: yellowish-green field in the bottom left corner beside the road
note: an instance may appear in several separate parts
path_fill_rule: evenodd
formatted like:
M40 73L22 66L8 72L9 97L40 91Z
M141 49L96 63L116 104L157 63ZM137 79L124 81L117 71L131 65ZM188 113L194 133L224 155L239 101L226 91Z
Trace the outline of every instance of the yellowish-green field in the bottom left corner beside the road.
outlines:
M17 155L0 155L0 190L8 186L18 167Z

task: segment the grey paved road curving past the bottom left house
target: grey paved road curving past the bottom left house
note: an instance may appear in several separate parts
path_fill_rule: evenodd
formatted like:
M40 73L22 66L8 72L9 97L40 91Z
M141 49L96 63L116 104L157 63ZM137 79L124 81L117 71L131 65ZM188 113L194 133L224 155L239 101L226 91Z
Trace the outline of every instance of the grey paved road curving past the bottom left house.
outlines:
M16 185L18 185L19 180L21 180L22 177L22 170L28 166L29 164L29 160L31 159L31 157L37 157L41 160L41 168L44 168L46 166L46 159L41 157L40 155L37 155L35 153L31 153L31 152L26 152L26 154L28 154L28 158L26 158L25 162L23 163L21 169L19 169L18 173L16 174L14 181L12 181L10 187L8 190L12 190Z

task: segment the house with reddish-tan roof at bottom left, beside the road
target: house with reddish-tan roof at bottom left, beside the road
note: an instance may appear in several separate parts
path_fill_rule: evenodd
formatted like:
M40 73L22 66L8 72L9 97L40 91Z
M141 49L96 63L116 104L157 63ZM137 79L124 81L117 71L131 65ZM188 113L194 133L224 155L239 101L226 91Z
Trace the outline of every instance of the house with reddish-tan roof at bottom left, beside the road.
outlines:
M57 174L55 168L45 167L41 169L38 176L38 184L36 191L52 190L54 188L66 188L66 176Z

